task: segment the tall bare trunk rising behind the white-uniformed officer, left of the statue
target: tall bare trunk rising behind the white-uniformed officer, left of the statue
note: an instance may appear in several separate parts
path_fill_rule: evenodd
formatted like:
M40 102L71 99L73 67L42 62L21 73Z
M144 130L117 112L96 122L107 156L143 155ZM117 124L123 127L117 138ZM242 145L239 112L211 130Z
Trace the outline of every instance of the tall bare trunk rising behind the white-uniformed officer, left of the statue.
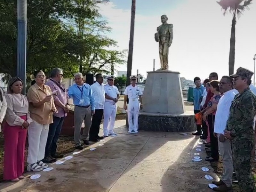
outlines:
M132 75L132 52L133 52L135 9L136 9L136 0L132 0L132 16L131 16L129 52L128 52L128 60L127 60L126 86L130 84L130 76Z

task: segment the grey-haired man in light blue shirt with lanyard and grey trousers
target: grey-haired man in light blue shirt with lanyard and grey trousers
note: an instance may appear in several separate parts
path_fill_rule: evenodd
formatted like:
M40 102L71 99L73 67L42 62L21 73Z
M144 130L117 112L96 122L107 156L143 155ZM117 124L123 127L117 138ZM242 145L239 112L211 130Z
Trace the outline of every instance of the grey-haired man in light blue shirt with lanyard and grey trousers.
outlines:
M89 129L91 127L91 118L95 113L95 100L92 94L92 89L89 84L83 82L82 73L75 74L75 82L68 89L69 98L73 98L75 105L74 121L75 131L74 140L76 149L82 150L82 140L85 145L89 145L87 140ZM81 137L81 126L84 121L84 130Z

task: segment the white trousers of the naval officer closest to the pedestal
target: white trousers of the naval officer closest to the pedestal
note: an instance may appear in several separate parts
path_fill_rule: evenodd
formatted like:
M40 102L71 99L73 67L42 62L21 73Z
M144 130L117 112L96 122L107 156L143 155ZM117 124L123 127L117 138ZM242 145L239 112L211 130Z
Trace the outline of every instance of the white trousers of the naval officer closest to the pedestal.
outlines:
M129 124L130 132L132 132L132 130L134 132L138 131L139 109L140 109L139 100L129 99L129 104L127 107L127 115L128 115L128 124ZM132 124L132 116L133 116L133 124Z

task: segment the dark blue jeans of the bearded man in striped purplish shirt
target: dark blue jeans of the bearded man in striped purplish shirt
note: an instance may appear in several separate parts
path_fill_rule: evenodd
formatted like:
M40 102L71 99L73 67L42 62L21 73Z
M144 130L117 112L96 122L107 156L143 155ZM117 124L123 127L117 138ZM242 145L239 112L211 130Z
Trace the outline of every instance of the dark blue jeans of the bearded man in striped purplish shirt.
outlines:
M64 122L64 117L53 116L53 123L49 126L48 138L45 146L44 158L55 156L57 149L57 141L60 136L61 128Z

